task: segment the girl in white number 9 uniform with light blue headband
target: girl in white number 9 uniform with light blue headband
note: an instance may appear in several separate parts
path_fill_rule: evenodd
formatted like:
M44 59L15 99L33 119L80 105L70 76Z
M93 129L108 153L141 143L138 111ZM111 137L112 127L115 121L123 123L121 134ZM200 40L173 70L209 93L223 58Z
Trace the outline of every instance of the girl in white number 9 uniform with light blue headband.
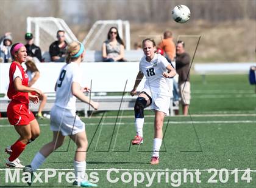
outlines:
M40 149L32 160L32 163L24 168L24 172L30 172L31 174L35 172L54 150L62 146L65 136L70 136L77 146L74 157L76 180L73 185L96 187L96 184L84 180L86 168L85 151L87 150L88 141L85 133L85 124L76 116L76 98L90 104L95 110L97 110L99 106L98 102L90 101L90 99L84 95L83 92L89 91L90 89L80 87L81 72L79 65L84 55L84 45L80 42L71 42L68 45L67 63L60 70L60 76L55 85L55 104L51 110L51 130L53 131L53 139Z

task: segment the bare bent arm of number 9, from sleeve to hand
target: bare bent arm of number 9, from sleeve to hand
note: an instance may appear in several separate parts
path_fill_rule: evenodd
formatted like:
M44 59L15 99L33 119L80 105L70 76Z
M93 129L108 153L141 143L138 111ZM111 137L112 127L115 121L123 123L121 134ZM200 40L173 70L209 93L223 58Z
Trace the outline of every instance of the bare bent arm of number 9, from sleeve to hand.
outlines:
M80 84L78 82L73 82L71 86L72 94L76 96L76 98L80 99L80 101L90 104L95 110L98 109L99 103L90 100L88 96L85 96L84 93L80 89Z

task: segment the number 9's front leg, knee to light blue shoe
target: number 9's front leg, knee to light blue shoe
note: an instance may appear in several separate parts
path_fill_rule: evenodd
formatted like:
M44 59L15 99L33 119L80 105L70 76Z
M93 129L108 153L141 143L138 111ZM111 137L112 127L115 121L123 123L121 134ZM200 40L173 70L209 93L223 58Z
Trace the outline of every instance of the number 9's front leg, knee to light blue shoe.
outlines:
M90 183L90 181L85 180L85 170L86 170L86 152L88 147L88 141L85 131L79 132L76 135L71 135L74 143L76 143L77 149L74 156L74 170L76 175L76 180L74 181L74 186L81 187L97 187L97 184Z

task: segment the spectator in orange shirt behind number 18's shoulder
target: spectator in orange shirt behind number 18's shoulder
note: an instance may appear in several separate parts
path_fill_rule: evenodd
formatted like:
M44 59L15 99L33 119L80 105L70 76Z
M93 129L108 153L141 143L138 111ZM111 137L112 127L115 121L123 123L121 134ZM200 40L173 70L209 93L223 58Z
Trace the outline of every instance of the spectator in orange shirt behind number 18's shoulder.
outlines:
M160 49L163 49L166 55L166 59L171 62L175 57L175 44L172 41L172 33L170 31L166 31L163 33L163 40L157 46Z

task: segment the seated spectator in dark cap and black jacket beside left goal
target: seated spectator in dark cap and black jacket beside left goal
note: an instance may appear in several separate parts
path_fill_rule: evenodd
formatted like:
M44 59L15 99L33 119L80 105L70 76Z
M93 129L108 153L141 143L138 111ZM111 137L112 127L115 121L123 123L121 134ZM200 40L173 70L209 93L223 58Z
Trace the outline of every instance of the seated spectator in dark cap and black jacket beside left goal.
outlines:
M25 45L27 49L27 59L32 60L35 59L35 61L42 62L42 55L41 55L41 49L37 45L34 44L33 34L32 33L26 33L25 34L25 40L27 44Z

